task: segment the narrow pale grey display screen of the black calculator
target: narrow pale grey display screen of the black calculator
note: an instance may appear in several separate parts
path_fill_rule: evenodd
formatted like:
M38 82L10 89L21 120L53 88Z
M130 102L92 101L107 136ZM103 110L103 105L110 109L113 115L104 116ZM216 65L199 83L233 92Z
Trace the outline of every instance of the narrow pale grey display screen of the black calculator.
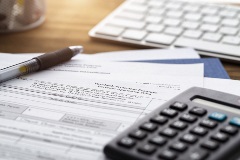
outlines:
M192 101L195 102L195 103L198 103L198 104L202 104L202 105L205 105L205 106L221 109L221 110L224 110L224 111L227 111L227 112L232 112L232 113L240 115L240 109L236 109L236 108L233 108L233 107L228 106L228 105L223 105L223 104L219 104L219 103L216 103L216 102L212 102L212 101L208 101L208 100L200 99L200 98L194 98Z

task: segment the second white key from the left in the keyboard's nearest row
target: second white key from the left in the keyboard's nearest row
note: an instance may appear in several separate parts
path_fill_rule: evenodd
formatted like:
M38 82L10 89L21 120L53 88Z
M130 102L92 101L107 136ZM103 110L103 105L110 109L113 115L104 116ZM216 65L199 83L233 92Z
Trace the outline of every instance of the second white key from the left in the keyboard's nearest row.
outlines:
M122 37L126 39L141 41L146 36L146 34L146 31L128 29L122 34Z

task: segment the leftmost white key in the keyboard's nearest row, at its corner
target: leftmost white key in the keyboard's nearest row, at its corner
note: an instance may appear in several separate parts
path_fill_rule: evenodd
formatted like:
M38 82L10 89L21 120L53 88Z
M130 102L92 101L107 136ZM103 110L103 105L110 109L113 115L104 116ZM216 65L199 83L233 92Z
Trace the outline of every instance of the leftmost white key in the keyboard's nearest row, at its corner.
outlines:
M124 28L121 27L114 27L114 26L104 26L96 31L97 34L103 34L108 36L120 36L123 32Z

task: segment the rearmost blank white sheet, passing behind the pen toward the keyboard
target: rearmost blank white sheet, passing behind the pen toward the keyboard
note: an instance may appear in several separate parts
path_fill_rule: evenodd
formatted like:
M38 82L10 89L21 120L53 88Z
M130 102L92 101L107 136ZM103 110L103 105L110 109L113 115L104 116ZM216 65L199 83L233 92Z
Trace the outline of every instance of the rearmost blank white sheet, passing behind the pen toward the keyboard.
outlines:
M25 53L25 54L0 54L1 67L8 67L27 61L31 58L41 55L42 53ZM131 50L118 52L104 52L96 54L79 54L73 59L89 61L141 61L141 60L161 60L161 59L198 59L200 56L193 49L146 49Z

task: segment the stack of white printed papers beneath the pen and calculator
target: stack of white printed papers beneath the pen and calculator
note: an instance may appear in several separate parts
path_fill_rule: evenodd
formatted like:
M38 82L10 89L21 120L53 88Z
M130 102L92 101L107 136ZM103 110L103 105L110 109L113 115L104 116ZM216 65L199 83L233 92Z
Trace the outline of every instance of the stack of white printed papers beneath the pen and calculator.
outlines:
M0 68L34 56L0 54ZM79 55L1 83L0 159L103 160L109 140L190 87L239 94L218 60L199 58L191 49Z

